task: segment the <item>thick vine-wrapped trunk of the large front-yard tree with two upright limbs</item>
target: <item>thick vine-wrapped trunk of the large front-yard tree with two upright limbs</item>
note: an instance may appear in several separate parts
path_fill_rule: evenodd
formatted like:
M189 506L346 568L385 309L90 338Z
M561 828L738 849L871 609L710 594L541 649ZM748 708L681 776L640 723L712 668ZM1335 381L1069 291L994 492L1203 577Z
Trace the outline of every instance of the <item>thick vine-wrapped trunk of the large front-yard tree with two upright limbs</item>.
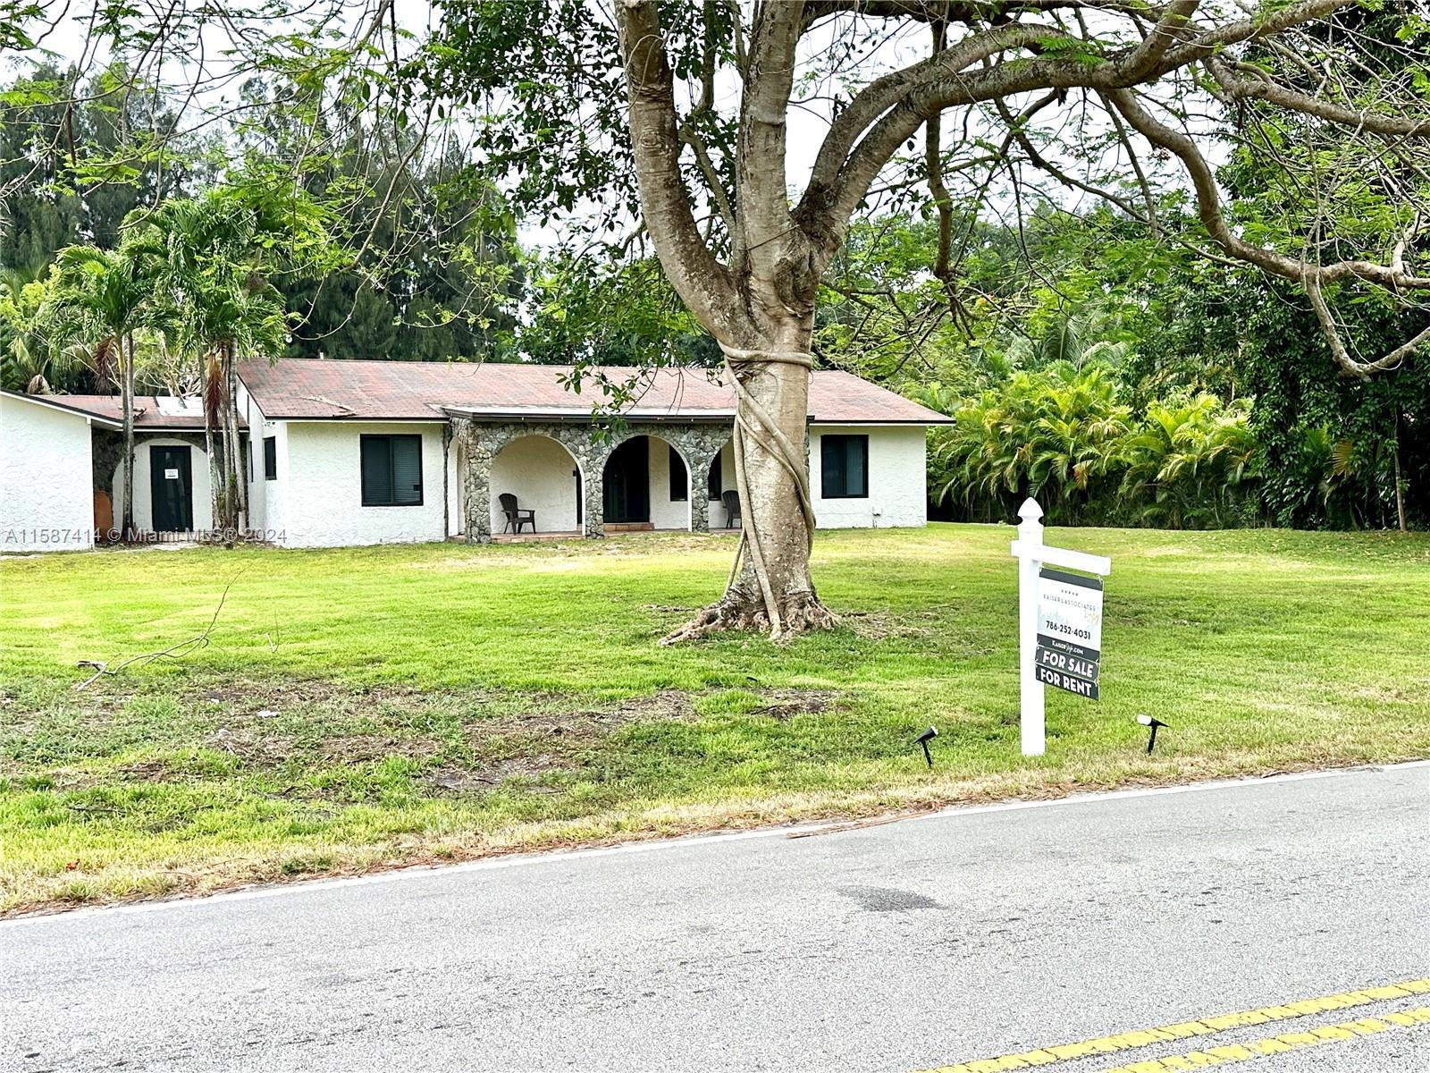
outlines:
M784 638L835 621L809 578L805 448L814 300L834 248L817 246L795 225L785 189L785 107L801 4L759 10L742 90L735 199L721 205L731 232L726 266L706 246L681 177L681 146L694 134L676 120L658 6L623 0L618 7L641 216L665 275L719 342L726 376L738 385L736 565L721 601L666 642L751 627Z

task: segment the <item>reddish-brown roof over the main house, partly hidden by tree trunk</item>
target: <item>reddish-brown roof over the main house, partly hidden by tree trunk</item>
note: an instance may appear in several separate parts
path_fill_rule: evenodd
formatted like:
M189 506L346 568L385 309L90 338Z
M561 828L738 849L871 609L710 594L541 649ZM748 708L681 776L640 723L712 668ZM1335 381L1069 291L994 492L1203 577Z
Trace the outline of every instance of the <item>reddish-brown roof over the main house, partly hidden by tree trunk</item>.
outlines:
M263 416L296 421L443 421L446 411L488 418L582 419L603 396L589 376L636 378L631 419L716 421L735 392L705 369L603 366L578 395L569 365L383 362L285 358L243 362L239 375ZM942 425L950 418L847 372L817 371L809 421L821 425Z

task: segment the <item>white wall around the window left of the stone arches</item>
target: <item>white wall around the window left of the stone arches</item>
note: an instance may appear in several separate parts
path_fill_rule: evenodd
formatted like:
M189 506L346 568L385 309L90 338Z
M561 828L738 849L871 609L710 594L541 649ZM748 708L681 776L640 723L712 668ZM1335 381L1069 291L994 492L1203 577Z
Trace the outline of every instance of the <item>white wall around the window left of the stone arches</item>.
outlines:
M269 528L295 548L440 541L443 532L442 425L286 421L277 429L279 494L269 495ZM422 436L422 502L362 505L363 435ZM270 485L270 492L272 485ZM276 509L275 509L276 505Z

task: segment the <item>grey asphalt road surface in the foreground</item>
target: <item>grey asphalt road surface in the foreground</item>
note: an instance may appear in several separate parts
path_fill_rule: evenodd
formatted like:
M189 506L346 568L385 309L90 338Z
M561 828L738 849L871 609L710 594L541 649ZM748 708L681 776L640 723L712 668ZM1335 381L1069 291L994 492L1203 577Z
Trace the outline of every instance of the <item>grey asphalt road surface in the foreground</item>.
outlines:
M1430 977L1427 790L1403 765L21 918L0 1069L919 1070L1281 1007L1041 1067L1377 1017L1238 1067L1424 1073L1430 993L1281 1004Z

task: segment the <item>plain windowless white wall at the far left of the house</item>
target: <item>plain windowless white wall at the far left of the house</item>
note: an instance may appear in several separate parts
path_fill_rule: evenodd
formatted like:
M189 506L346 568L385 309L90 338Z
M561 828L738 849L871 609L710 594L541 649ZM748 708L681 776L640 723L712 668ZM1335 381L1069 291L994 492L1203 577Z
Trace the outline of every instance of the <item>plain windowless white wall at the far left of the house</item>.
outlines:
M0 395L0 554L94 547L90 423Z

